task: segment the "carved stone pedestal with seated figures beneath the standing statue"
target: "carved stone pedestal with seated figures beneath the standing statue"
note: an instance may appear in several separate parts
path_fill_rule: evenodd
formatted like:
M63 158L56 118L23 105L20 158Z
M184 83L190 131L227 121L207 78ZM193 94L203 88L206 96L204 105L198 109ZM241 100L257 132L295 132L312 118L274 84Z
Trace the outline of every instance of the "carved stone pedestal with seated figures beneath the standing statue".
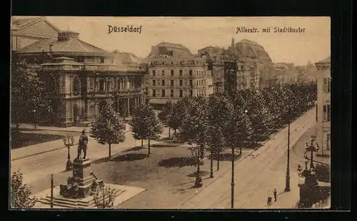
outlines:
M73 178L78 180L79 190L74 192L76 198L89 197L94 191L94 183L97 184L96 188L99 189L104 186L103 180L97 180L87 168L91 165L91 160L74 160L73 162ZM66 196L66 191L69 191L68 185L60 185L60 195Z

